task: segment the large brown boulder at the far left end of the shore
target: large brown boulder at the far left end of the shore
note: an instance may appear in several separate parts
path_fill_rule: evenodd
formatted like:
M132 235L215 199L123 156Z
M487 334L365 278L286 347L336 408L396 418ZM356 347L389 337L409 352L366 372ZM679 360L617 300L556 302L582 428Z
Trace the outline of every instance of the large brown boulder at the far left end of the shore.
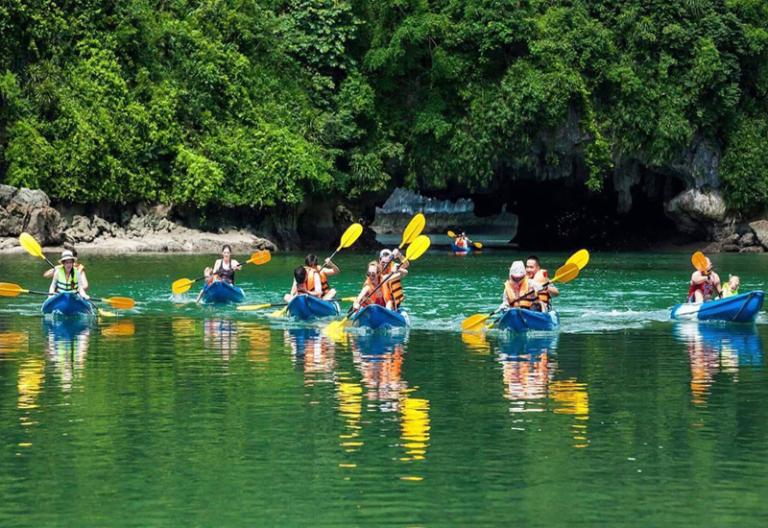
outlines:
M0 237L15 239L23 232L42 244L57 244L62 237L61 215L43 191L0 185Z

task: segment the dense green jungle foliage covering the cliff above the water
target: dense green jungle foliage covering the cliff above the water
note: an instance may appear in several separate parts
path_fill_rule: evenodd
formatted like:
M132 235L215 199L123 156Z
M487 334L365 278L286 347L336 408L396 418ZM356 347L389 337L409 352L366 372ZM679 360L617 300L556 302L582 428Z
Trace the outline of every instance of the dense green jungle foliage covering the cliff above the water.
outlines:
M768 201L765 0L0 0L0 34L0 182L62 200L476 190L575 120L595 192L699 136Z

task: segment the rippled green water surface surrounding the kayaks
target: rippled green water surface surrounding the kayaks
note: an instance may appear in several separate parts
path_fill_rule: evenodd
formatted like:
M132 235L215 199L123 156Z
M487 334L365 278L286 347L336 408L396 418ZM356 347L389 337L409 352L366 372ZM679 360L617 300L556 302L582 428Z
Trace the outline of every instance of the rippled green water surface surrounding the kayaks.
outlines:
M340 296L370 256L339 256ZM137 300L119 318L0 298L0 525L761 526L765 313L673 324L690 255L597 254L561 286L560 332L462 334L522 256L432 251L408 332L336 341L173 298L204 256L85 257L93 295ZM714 260L768 282L768 256ZM299 261L246 267L246 302L279 302ZM0 258L2 281L45 290L43 271Z

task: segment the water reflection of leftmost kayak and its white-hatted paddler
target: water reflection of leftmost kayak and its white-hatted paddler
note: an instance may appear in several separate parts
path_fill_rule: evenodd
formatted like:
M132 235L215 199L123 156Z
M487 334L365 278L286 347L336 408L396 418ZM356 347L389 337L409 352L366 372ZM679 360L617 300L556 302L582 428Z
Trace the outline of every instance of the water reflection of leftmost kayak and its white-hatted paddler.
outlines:
M82 374L95 321L86 317L45 317L46 355L54 365L63 391L70 391Z

